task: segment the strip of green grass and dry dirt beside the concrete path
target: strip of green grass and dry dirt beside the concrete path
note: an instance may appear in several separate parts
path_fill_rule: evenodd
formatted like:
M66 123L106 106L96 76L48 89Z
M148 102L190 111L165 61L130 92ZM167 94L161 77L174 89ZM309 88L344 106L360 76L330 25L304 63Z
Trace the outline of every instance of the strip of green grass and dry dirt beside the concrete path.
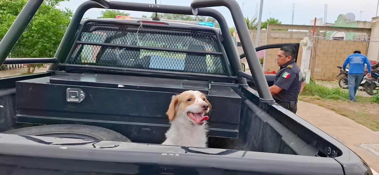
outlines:
M311 80L299 95L299 100L310 102L335 111L373 131L379 131L379 95L374 97L357 96L357 102L349 101L348 92L341 88L327 88Z

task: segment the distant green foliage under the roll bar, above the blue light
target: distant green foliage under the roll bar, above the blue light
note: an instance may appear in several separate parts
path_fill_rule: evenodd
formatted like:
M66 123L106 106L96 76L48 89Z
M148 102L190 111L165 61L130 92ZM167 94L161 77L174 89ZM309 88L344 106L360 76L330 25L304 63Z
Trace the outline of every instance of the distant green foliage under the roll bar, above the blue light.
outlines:
M152 13L150 18L155 17L155 13ZM220 28L219 23L213 17L205 16L192 16L183 14L168 14L168 13L158 13L160 19L171 19L171 20L185 20L185 21L201 21L201 22L213 22L215 27Z

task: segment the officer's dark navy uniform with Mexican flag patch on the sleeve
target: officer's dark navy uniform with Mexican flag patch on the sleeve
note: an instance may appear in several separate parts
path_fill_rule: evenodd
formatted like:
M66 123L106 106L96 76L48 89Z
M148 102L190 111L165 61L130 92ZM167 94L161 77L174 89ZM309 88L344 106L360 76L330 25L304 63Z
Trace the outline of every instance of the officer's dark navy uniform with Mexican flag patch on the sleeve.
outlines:
M283 64L276 73L274 81L274 85L282 88L282 91L273 95L276 103L296 113L298 110L298 95L303 81L301 70L294 59Z

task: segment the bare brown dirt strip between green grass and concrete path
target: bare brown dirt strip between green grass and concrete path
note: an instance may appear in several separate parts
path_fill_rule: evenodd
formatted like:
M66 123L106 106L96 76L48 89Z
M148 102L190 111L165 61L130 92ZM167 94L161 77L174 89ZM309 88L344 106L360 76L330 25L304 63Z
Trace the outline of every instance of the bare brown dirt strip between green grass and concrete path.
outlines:
M330 109L373 131L379 131L379 116L377 113L379 103L354 103L342 100L326 100L311 96L299 96L299 99Z

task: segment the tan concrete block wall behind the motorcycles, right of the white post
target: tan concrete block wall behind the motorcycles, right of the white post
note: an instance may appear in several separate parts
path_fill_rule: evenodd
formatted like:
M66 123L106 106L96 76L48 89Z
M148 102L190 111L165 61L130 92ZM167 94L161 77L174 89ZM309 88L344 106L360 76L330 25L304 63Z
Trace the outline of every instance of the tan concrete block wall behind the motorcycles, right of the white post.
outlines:
M316 60L312 73L314 79L334 80L337 79L339 69L346 57L360 49L366 55L367 42L318 40L316 44Z

